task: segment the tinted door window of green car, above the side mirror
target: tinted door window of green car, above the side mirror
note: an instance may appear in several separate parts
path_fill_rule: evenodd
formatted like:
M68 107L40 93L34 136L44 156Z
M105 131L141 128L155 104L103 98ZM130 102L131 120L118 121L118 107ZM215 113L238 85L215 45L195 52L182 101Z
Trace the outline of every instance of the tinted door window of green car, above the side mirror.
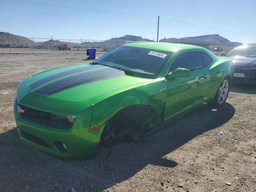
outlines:
M201 52L186 52L180 54L176 60L173 62L171 66L171 72L176 70L177 68L184 69L197 69L204 67L204 62L202 58Z

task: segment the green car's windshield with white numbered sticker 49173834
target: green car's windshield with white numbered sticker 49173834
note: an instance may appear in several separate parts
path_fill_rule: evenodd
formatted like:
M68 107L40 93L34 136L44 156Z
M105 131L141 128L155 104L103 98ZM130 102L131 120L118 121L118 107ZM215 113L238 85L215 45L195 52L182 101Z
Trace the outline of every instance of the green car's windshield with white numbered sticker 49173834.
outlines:
M100 64L124 70L127 75L157 78L172 52L120 46L92 64Z

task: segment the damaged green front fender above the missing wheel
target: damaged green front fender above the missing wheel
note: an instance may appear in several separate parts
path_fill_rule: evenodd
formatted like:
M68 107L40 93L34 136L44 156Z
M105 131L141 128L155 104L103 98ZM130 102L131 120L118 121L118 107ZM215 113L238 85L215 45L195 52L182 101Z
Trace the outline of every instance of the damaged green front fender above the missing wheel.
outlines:
M150 124L162 124L166 89L164 80L120 92L94 105L91 127L106 124L118 112L124 112L129 118L149 115ZM147 114L150 109L151 113Z

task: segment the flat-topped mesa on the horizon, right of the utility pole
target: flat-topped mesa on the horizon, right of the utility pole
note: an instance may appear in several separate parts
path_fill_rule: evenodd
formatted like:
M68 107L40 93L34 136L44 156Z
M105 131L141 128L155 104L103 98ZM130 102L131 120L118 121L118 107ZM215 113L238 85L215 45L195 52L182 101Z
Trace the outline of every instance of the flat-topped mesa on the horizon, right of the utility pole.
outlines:
M183 37L180 39L210 41L218 44L218 46L236 46L241 44L239 42L231 42L230 40L220 36L219 34L201 35L201 36L195 36L195 37Z

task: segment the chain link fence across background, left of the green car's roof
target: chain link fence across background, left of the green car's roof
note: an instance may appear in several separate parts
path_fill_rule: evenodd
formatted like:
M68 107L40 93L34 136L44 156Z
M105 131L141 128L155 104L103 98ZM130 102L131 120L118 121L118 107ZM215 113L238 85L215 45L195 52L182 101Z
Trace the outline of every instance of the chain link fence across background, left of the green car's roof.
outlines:
M122 44L133 41L16 38L0 36L0 54L61 54L86 53L87 48L108 52Z

